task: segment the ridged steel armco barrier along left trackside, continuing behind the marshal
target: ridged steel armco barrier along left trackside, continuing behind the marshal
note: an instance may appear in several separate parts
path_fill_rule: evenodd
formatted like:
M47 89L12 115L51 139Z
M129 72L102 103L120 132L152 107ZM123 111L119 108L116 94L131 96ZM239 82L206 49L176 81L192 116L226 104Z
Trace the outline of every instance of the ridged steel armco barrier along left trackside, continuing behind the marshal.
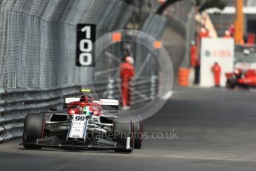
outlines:
M158 90L159 77L141 78L130 83L131 104L152 100ZM106 97L120 99L120 80L109 85ZM97 94L103 94L107 83L94 85ZM86 86L92 88L92 86ZM80 94L81 86L65 88L0 88L0 143L22 137L24 119L28 113L63 109L63 97Z

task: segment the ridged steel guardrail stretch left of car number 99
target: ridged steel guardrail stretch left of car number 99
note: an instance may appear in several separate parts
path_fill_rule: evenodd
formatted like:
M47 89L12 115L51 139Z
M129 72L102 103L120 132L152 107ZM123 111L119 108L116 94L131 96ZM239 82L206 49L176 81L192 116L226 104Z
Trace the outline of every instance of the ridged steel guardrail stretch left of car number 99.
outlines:
M22 136L26 114L63 108L63 97L79 92L80 86L65 88L0 89L0 143Z

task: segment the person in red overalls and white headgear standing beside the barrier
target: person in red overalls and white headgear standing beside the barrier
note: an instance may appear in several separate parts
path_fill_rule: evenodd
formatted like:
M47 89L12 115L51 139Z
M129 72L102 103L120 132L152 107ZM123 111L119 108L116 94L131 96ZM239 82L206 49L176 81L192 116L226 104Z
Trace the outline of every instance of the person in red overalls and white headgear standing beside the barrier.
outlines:
M127 56L125 61L121 63L120 68L120 78L121 78L121 98L123 109L129 109L129 82L135 75L134 59Z

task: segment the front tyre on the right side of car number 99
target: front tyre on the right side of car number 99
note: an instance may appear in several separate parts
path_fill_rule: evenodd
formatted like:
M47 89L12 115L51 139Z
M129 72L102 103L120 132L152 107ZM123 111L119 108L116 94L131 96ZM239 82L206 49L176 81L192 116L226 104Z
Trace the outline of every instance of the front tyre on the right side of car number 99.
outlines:
M121 146L127 146L127 139L129 138L129 149L115 149L115 152L132 152L134 149L134 127L132 120L122 122L118 119L114 120L113 131L114 141Z

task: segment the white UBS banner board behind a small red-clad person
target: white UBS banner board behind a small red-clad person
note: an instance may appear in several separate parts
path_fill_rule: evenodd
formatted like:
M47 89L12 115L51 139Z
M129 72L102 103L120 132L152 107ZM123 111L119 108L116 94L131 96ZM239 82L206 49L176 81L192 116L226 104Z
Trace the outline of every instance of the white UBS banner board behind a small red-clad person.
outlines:
M200 86L215 86L214 73L211 71L215 62L219 63L222 70L220 86L225 86L225 73L234 71L234 39L202 39Z

